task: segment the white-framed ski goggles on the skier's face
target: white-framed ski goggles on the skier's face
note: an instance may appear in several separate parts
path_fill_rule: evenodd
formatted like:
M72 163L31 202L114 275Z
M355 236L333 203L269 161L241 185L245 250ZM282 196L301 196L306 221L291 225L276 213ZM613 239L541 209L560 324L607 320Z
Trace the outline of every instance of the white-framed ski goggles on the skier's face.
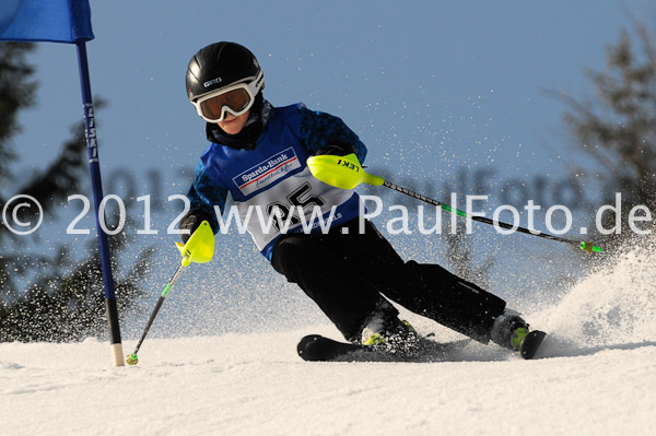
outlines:
M242 82L219 91L211 92L196 102L198 115L208 122L218 122L225 119L225 114L231 113L235 117L250 109L255 96L262 84L263 74L260 73L250 82Z

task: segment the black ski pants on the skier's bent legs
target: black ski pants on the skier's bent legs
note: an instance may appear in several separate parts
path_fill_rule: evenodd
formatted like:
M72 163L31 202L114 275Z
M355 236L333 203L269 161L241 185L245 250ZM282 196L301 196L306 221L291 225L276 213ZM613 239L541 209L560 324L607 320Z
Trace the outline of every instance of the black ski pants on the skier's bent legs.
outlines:
M319 306L349 341L359 341L380 294L408 310L487 343L505 302L437 264L405 262L368 221L327 234L286 234L271 264ZM348 231L343 231L348 228Z

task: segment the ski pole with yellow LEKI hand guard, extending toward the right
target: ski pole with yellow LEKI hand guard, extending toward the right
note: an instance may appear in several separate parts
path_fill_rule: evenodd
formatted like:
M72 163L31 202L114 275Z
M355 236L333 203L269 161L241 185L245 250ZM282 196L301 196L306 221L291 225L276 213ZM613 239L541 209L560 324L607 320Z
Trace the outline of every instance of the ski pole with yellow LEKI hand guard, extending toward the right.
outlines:
M494 221L485 216L471 216L467 214L467 212L453 208L449 204L443 203L442 201L434 200L426 196L422 196L421 193L411 191L408 188L403 188L393 182L389 182L383 177L367 174L362 168L362 165L360 164L360 161L358 161L358 156L355 156L354 153L348 154L345 156L335 156L328 154L311 156L307 158L307 166L309 167L309 170L313 174L313 176L315 176L323 182L335 186L337 188L353 189L360 184L384 186L397 192L401 192L406 196L412 197L417 200L421 200L425 203L441 208L444 211L455 213L459 216L470 219L472 221L478 221L479 223L497 225L502 228L515 229L527 235L538 236L544 239L551 239L560 243L570 244L581 248L586 252L601 251L601 248L595 246L591 241L576 241L572 239L562 238L560 236L550 235L548 233L530 231L528 228L519 226L516 227L512 224Z

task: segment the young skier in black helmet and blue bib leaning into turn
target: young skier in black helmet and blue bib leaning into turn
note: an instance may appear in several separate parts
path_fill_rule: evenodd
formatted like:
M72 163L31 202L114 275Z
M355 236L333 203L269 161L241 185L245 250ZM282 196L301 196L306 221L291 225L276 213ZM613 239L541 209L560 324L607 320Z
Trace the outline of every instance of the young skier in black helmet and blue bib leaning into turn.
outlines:
M312 176L312 155L355 153L364 162L365 145L340 118L303 104L273 107L262 96L256 57L234 43L194 55L186 84L189 102L207 121L210 145L187 195L191 209L180 221L188 231L183 240L206 220L216 233L214 207L223 212L230 193L242 219L256 207L291 220L288 232L267 229L253 212L246 225L276 271L296 283L348 341L414 353L418 334L398 318L393 301L482 343L518 350L528 325L503 299L437 264L403 261L373 223L359 232L358 193ZM319 208L324 217L335 207L330 231L304 233L298 217L289 215L298 207L306 216Z

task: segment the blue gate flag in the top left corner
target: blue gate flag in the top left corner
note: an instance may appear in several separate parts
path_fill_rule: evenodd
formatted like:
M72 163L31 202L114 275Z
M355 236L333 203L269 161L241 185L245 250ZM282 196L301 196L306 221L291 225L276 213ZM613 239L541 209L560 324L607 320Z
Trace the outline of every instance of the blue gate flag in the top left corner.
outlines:
M2 0L0 40L78 43L93 39L89 0Z

